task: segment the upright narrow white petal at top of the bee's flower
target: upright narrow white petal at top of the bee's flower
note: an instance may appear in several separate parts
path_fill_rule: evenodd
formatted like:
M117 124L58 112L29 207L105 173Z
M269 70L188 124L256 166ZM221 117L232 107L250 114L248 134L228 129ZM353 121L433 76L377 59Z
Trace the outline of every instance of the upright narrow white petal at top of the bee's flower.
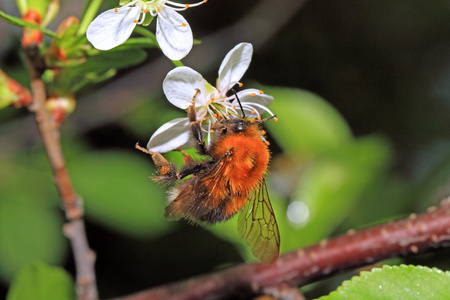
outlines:
M249 43L240 43L231 49L220 65L217 88L225 93L238 82L252 60L253 46Z

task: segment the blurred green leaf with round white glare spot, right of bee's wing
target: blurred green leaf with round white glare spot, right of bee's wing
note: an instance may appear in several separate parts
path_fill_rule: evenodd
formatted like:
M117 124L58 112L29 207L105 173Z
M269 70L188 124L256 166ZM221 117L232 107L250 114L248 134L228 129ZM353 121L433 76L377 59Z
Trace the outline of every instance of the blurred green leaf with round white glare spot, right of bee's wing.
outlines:
M389 158L390 148L383 140L367 137L341 145L336 153L305 166L291 196L290 217L284 219L285 224L280 222L283 249L293 250L328 237L383 176ZM298 213L306 214L305 219L297 221Z

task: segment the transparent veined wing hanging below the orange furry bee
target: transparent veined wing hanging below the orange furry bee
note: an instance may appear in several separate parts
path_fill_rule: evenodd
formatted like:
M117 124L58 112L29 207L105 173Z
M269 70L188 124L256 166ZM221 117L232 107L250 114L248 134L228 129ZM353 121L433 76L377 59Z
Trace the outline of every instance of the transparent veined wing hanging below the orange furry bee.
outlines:
M277 260L280 232L264 179L239 214L238 232L262 262L271 264Z

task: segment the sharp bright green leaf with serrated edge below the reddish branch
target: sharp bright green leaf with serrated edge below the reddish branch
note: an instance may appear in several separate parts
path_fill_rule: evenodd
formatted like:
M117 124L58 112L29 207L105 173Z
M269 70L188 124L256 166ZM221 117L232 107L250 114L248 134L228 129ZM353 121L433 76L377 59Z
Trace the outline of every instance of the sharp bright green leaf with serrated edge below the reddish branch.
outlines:
M320 300L433 299L450 296L450 272L422 266L384 266L363 271Z

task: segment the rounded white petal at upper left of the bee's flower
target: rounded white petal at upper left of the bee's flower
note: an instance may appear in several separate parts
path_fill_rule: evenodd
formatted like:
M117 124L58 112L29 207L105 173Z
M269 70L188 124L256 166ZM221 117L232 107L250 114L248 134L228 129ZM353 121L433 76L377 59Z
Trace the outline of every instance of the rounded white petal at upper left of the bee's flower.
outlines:
M181 109L191 105L196 89L199 89L200 93L195 97L195 106L203 106L206 99L205 80L200 73L189 67L183 66L171 70L163 82L167 100Z

